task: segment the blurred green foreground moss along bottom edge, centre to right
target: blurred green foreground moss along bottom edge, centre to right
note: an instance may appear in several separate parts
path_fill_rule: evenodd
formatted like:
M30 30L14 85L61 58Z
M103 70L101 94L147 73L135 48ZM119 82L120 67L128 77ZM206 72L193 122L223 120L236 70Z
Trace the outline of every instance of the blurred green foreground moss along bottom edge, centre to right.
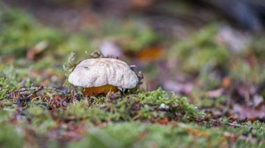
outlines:
M229 129L204 129L192 124L161 126L139 122L108 124L105 128L93 127L86 137L69 147L262 147L264 142L231 141L225 138ZM222 139L222 140L221 140ZM222 142L220 142L220 140Z

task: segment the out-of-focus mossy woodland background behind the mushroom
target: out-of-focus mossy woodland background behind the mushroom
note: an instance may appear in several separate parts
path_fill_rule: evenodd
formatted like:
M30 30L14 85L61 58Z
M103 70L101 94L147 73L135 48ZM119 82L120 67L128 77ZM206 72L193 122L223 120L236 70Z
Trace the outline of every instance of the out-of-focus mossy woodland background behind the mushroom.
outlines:
M143 88L264 119L264 23L262 0L2 0L0 70L61 88L70 52L100 49L137 65Z

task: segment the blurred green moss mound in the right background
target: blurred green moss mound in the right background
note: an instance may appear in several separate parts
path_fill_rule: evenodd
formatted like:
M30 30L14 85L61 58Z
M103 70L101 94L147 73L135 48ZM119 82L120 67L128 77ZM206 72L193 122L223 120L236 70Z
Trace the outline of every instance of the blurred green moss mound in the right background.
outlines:
M179 60L184 72L198 73L205 65L227 67L229 51L216 42L216 33L215 25L203 28L190 38L176 42L169 57Z

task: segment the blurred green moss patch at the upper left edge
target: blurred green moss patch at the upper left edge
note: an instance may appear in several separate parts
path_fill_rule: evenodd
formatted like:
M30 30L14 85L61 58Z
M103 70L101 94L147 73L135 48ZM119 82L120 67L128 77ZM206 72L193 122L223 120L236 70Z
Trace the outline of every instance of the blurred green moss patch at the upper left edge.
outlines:
M5 10L0 15L2 56L24 57L28 49L42 41L53 49L63 39L59 31L41 26L22 10Z

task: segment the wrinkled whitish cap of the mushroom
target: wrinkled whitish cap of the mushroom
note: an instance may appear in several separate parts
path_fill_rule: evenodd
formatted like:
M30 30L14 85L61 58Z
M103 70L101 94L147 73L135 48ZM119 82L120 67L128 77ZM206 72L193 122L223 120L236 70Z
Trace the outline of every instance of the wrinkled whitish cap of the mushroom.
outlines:
M119 88L135 88L138 78L135 72L115 58L90 58L82 60L68 77L69 83L84 88L114 85Z

